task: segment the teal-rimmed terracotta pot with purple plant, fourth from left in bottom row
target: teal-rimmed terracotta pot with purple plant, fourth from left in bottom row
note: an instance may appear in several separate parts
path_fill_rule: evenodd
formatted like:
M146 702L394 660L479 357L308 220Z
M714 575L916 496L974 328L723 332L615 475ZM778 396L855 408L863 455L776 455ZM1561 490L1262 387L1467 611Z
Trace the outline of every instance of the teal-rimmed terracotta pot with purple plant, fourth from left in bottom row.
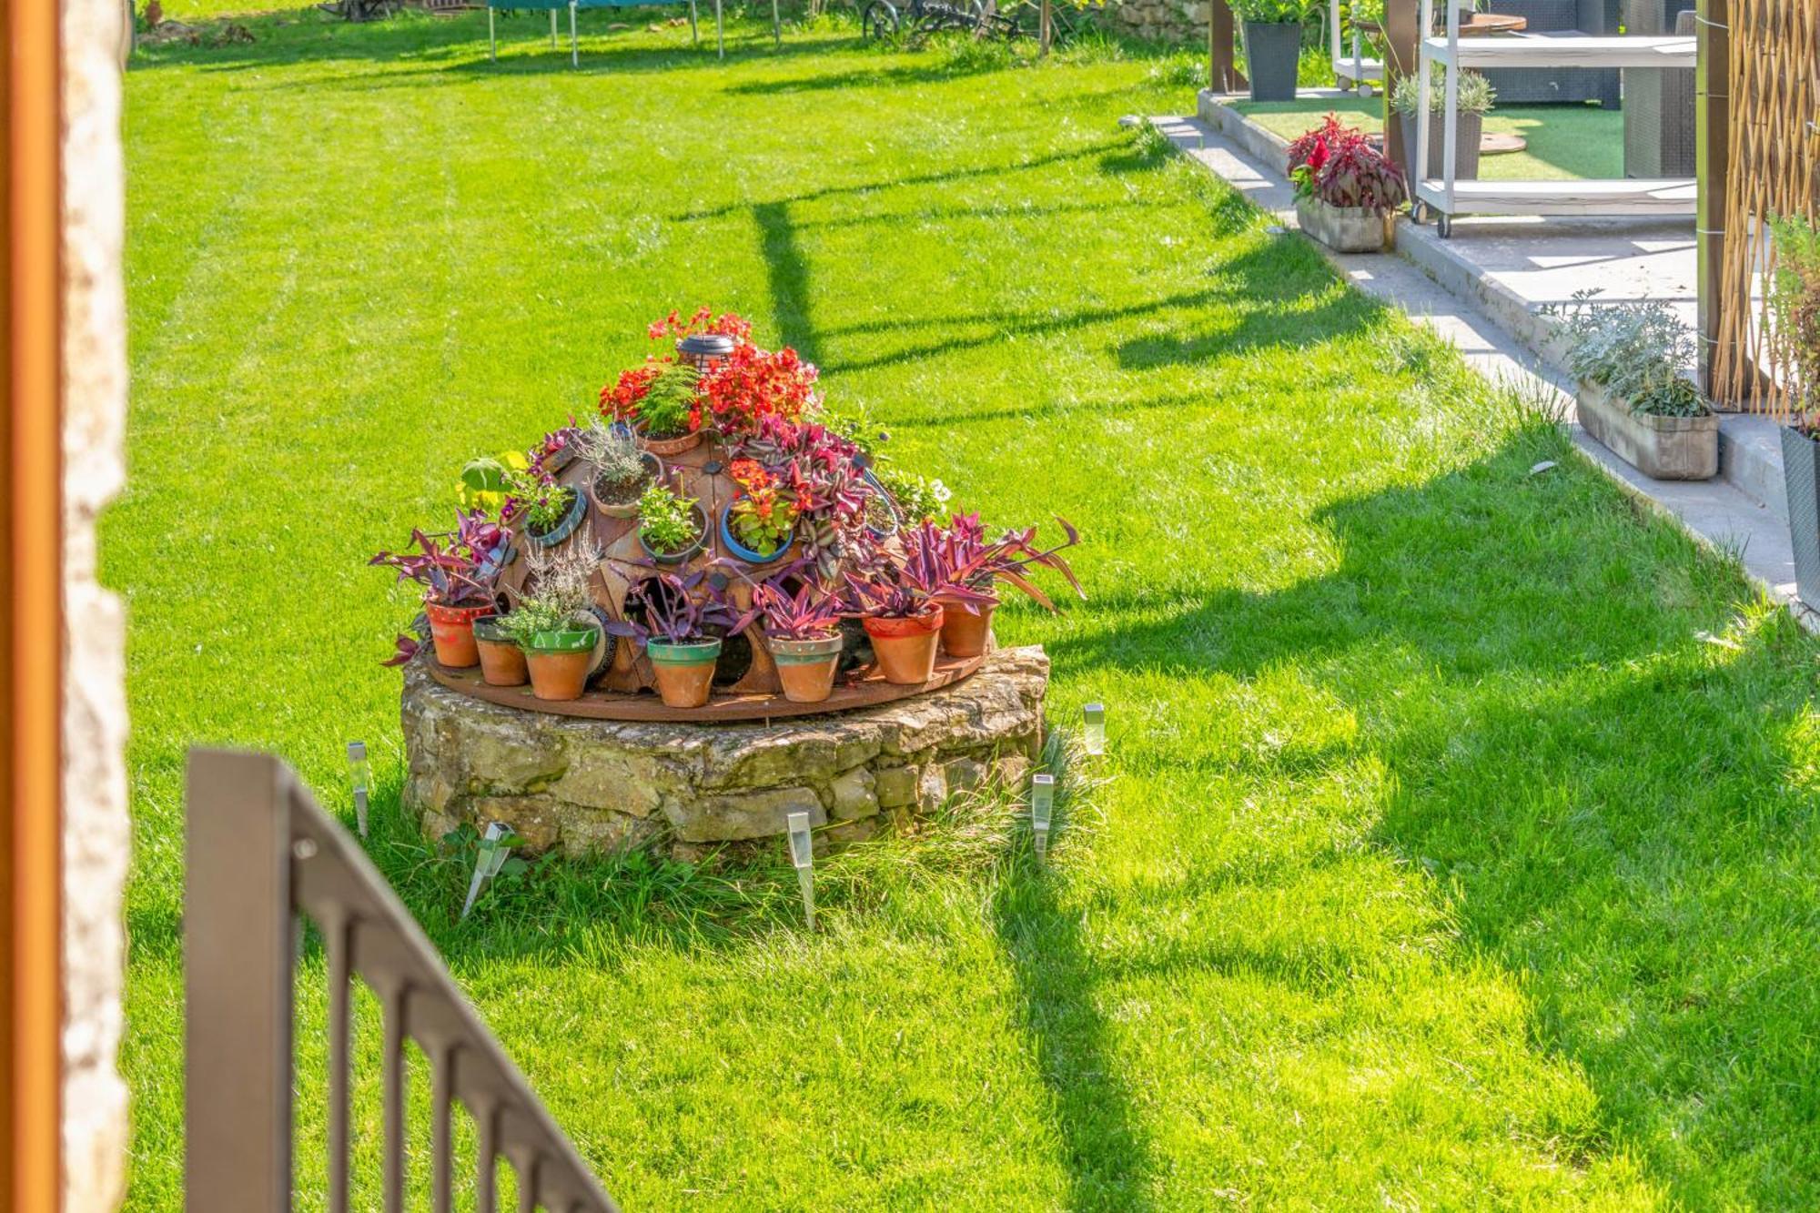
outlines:
M741 614L724 592L697 568L677 576L659 572L626 592L626 617L608 625L613 636L644 645L666 707L695 708L713 690L721 637L743 632L752 614Z

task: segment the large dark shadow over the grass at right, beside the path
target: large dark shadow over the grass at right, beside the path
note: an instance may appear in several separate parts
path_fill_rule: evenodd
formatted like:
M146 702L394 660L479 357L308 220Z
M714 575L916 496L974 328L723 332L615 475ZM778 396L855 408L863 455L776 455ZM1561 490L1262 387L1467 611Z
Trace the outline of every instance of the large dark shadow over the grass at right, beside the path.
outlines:
M1522 974L1538 1044L1598 1093L1609 1140L1580 1147L1636 1157L1693 1208L1813 1208L1811 637L1542 428L1314 521L1334 572L1101 597L1085 610L1152 621L1052 643L1057 670L1298 668L1392 776L1376 845L1440 882L1467 949Z

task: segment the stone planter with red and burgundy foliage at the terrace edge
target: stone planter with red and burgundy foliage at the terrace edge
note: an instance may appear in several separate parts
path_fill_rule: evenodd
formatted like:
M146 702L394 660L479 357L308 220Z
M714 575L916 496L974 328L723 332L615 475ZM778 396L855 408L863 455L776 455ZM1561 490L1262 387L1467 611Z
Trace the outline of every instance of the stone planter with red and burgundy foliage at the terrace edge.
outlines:
M1289 177L1301 229L1340 253L1381 250L1409 199L1403 173L1334 115L1289 146Z

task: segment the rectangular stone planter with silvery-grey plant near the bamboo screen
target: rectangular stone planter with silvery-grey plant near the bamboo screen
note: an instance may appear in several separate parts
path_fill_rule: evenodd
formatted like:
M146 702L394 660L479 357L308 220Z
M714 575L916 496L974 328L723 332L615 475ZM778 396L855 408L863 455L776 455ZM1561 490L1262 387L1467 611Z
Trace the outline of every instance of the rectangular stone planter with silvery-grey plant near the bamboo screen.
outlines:
M1718 413L1682 375L1693 366L1687 326L1662 301L1594 304L1580 291L1558 317L1580 424L1613 454L1658 481L1718 474Z

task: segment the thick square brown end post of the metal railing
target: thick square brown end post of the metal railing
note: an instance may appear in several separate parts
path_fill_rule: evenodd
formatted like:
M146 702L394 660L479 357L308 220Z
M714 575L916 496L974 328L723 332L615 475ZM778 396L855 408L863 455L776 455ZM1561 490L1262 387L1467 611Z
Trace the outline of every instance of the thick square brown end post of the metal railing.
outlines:
M291 1208L289 778L193 750L184 843L184 1193L195 1213Z

